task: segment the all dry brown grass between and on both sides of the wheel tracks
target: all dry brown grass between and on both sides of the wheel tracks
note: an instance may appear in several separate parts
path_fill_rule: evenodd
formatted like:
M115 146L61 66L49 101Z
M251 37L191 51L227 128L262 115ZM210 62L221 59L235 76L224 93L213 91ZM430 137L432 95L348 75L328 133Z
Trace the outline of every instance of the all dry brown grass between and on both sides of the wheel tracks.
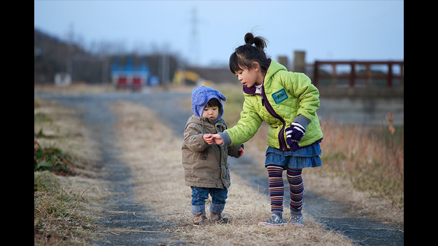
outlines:
M36 88L36 91L43 89ZM238 119L235 112L240 112L242 107L242 93L229 87L216 89L228 98L224 103L228 113L224 119L233 126ZM71 88L68 92L72 92ZM236 106L239 104L240 109ZM152 206L155 217L177 223L177 228L171 229L175 235L173 239L190 245L352 245L345 236L324 230L307 213L304 213L306 226L302 228L257 226L258 221L270 215L269 199L233 173L224 210L224 215L233 223L194 228L190 213L191 190L184 184L181 165L182 139L159 124L151 109L122 101L115 103L112 109L118 115L115 131L123 150L121 158L136 174L133 182L138 184L137 202ZM79 173L77 176L34 173L36 188L38 180L44 183L34 195L35 245L59 245L60 242L60 245L88 245L91 238L101 236L94 233L94 219L101 213L101 202L111 196L95 165L99 159L99 143L88 137L89 129L77 118L75 111L54 102L35 100L34 114L47 115L47 118L35 117L34 132L38 133L44 127L45 135L35 137L36 141L44 147L68 150L77 165L75 172ZM388 135L387 127L376 131L376 128L366 126L337 126L324 121L321 126L323 167L309 172L305 169L306 189L351 204L361 215L403 228L402 140L395 141L395 134ZM398 130L396 128L396 134ZM246 143L244 154L264 160L266 131L267 126L262 125L259 133ZM155 175L148 175L151 173ZM206 207L208 210L208 201ZM51 210L64 214L50 213Z

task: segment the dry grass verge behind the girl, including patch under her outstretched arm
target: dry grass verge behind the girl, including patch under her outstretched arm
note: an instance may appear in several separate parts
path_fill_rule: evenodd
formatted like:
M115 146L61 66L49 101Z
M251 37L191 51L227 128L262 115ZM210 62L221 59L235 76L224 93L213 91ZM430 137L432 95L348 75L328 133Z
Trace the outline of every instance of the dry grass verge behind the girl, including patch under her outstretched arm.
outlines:
M391 143L390 149L372 133L375 128L321 124L322 167L303 169L305 189L349 204L350 211L357 215L403 227L402 145ZM255 137L245 144L245 154L253 156L260 166L264 164L268 127L263 122ZM400 153L398 159L391 159L393 153Z

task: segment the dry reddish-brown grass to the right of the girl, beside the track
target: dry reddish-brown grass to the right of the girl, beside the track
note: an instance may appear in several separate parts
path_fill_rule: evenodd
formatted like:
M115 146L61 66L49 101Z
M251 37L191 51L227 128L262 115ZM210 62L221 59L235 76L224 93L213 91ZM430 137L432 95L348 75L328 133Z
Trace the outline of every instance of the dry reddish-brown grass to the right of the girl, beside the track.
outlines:
M403 139L380 134L376 127L337 125L321 122L323 167L315 169L312 180L340 180L344 193L339 199L350 202L362 215L403 227L404 223L404 148ZM380 128L387 131L390 127ZM379 129L379 128L377 128ZM402 135L402 128L398 128ZM321 182L319 182L321 184ZM324 185L326 189L330 185ZM316 193L328 193L325 189Z

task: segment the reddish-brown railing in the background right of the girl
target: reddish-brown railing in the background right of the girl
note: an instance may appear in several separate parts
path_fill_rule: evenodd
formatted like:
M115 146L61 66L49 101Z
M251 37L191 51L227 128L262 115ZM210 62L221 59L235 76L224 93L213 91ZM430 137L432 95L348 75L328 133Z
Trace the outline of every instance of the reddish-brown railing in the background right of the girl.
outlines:
M318 68L320 65L329 64L332 67L331 73L322 73ZM339 64L347 64L350 66L350 73L338 73L336 66ZM375 73L371 70L372 65L387 65L387 74ZM393 73L393 65L400 66L400 74ZM365 71L357 72L357 66L365 66ZM348 79L349 86L355 87L356 79L366 79L367 85L372 79L386 79L386 87L393 86L393 79L400 79L400 84L404 81L404 61L315 61L313 66L312 83L316 87L319 85L320 79Z

